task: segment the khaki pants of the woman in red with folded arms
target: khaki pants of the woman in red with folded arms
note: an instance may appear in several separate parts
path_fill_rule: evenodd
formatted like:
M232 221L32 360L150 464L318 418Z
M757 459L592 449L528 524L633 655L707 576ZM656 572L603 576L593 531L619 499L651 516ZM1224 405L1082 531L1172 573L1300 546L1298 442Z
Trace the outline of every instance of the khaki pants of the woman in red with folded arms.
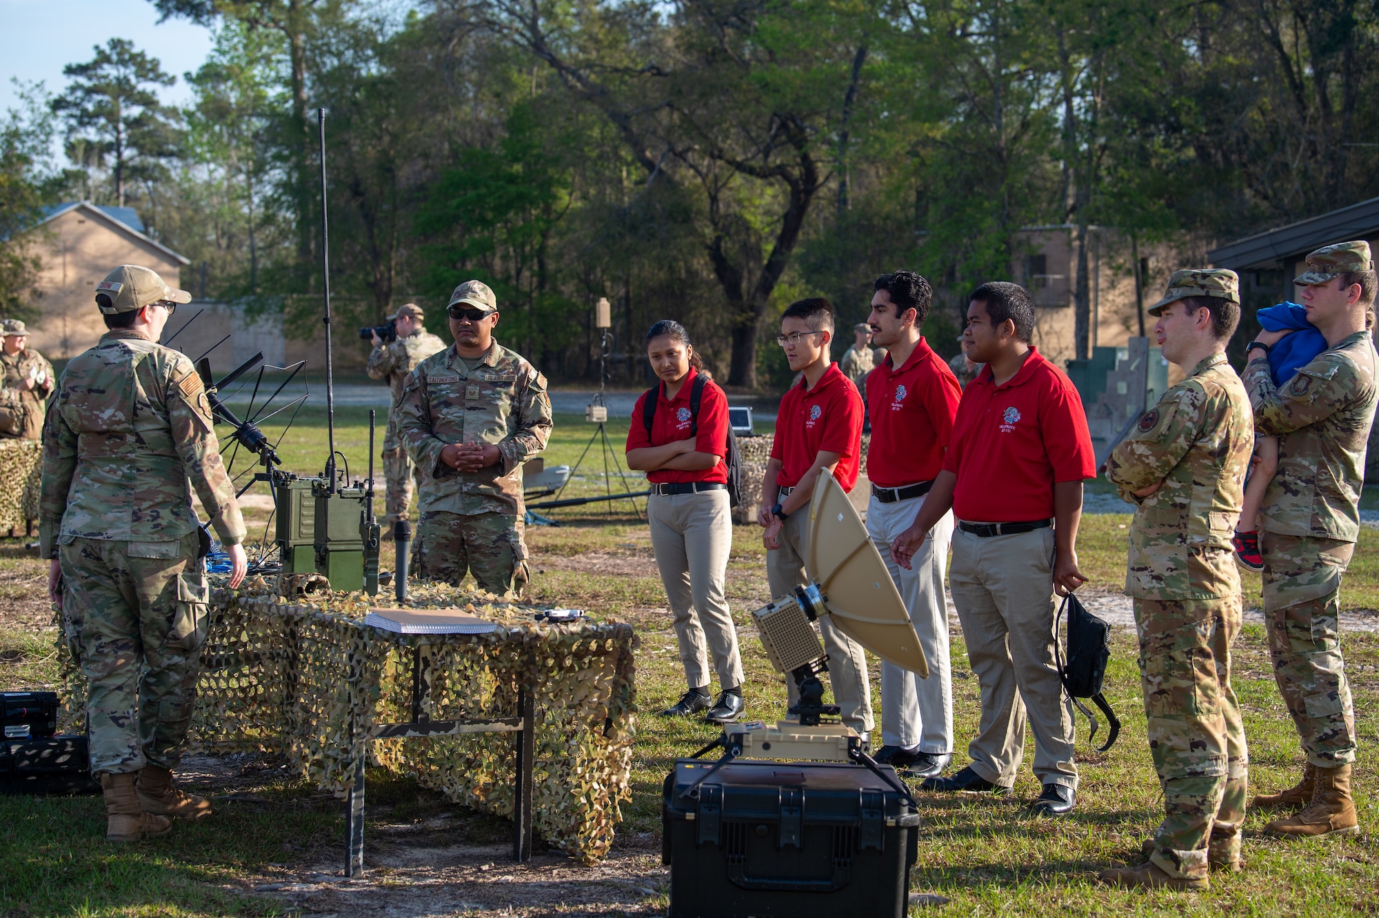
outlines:
M732 551L728 492L651 495L647 522L661 582L676 616L685 682L690 688L709 685L709 656L713 656L720 688L741 686L738 631L723 591Z

